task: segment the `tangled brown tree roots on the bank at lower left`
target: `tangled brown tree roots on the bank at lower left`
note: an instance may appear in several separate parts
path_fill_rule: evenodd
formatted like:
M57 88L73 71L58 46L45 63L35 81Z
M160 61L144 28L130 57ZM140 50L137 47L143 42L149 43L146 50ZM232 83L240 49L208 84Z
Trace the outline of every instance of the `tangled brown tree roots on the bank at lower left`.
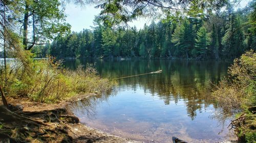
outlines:
M66 109L12 112L0 106L0 142L70 142L72 137L68 135L65 123L70 119L75 123L79 120L63 113L66 113ZM59 120L59 117L65 120Z

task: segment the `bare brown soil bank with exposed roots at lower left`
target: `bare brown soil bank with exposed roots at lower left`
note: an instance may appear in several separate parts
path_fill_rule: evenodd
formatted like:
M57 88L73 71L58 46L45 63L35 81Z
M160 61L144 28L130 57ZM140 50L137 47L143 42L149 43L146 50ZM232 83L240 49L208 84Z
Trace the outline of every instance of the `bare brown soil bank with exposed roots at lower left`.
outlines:
M56 104L8 98L9 104L22 105L24 109L10 111L0 106L0 142L137 142L80 124L79 119L65 108L67 104L90 96L94 94Z

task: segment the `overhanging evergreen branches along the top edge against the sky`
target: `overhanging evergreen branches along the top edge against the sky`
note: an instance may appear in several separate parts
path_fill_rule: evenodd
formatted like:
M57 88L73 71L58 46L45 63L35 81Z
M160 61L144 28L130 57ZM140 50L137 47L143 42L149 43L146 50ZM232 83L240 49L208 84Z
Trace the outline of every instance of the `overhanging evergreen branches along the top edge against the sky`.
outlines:
M79 1L82 2L82 1ZM97 4L97 8L101 9L99 19L104 26L118 25L119 23L127 23L144 15L158 16L158 14L166 14L168 18L175 19L180 15L192 15L195 13L209 12L209 9L220 9L226 1L206 0L206 1L182 1L176 3L173 1L86 1ZM189 9L189 10L188 10Z

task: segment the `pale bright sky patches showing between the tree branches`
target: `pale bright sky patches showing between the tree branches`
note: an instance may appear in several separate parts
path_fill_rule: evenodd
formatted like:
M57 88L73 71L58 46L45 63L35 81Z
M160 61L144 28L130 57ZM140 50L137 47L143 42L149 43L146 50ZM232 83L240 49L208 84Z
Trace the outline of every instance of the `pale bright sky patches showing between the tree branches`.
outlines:
M236 8L243 8L248 4L249 0L242 0L240 5ZM80 32L82 29L92 29L93 20L95 15L100 13L100 9L94 8L94 6L79 7L73 4L66 6L65 13L67 15L67 22L71 25L71 31ZM152 19L139 18L128 24L131 27L136 26L137 29L142 29L144 24L150 25Z

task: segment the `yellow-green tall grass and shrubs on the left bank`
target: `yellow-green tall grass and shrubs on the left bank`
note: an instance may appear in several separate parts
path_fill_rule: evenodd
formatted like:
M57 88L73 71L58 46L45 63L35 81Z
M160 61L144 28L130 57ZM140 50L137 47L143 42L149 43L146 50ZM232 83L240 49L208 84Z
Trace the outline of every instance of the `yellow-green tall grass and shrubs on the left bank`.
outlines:
M96 70L88 66L79 66L76 70L67 70L53 57L34 60L31 69L14 61L5 69L0 67L0 84L6 96L23 97L37 102L57 102L76 94L97 91L100 94L110 92L116 82L101 78Z

